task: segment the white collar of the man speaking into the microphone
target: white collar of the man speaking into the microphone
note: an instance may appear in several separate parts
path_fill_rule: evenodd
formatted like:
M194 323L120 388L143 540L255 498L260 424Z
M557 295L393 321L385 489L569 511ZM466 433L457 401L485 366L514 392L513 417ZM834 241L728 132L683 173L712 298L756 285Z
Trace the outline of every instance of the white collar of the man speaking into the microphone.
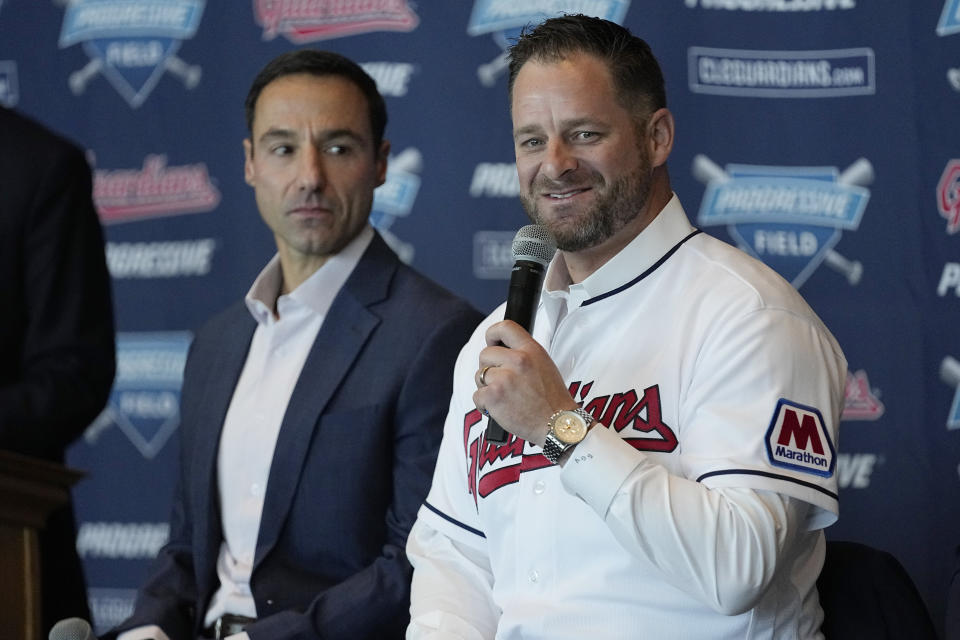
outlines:
M544 290L550 297L569 297L569 306L595 298L623 286L652 267L664 253L683 240L694 228L676 194L647 227L583 282L571 284L563 253L557 252L547 270ZM566 295L564 295L566 294Z

